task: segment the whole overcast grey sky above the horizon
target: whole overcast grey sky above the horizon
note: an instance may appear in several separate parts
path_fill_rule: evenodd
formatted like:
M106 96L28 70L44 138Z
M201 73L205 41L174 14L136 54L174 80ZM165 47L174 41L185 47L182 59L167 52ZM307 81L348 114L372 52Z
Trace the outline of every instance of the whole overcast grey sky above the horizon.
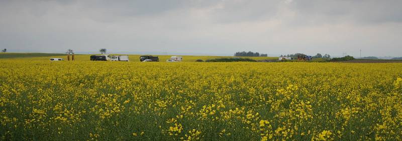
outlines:
M402 1L0 1L10 52L402 56Z

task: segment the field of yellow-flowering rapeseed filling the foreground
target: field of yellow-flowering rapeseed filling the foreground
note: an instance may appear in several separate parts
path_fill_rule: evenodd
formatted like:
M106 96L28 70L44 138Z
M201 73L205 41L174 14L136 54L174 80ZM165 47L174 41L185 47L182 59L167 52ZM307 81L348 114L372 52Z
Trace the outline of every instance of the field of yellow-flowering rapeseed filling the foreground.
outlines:
M402 63L88 60L0 59L0 139L402 140Z

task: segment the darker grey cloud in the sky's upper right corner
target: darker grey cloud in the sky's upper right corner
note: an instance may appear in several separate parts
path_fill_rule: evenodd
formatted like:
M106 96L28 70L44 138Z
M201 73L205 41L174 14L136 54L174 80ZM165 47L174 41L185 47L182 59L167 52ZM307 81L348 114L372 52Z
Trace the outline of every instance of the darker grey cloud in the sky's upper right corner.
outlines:
M306 21L378 24L402 22L402 1L294 1L290 8Z

